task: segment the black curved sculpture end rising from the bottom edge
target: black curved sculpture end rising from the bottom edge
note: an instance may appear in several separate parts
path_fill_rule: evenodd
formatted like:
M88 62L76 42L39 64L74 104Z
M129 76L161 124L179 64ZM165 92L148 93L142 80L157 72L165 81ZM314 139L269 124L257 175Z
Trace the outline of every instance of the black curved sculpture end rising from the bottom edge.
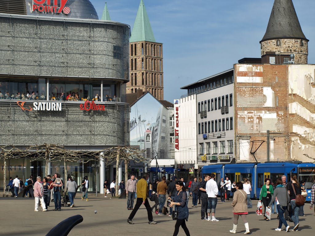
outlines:
M66 236L75 227L77 224L83 221L83 217L81 215L71 216L59 224L57 224L54 228L52 228L46 236Z

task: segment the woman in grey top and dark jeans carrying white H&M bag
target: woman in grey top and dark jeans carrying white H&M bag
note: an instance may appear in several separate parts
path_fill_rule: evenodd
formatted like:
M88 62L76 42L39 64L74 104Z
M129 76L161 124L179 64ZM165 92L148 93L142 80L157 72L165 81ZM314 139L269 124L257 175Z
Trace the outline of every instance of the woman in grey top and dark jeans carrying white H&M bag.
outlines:
M284 224L285 231L289 232L289 225L284 218L284 211L287 210L288 200L290 199L289 193L287 188L283 187L282 179L278 178L276 181L276 188L273 192L273 196L271 202L268 205L268 208L272 205L272 202L276 200L276 207L278 209L278 216L279 216L279 226L276 228L276 231L281 231L282 224Z

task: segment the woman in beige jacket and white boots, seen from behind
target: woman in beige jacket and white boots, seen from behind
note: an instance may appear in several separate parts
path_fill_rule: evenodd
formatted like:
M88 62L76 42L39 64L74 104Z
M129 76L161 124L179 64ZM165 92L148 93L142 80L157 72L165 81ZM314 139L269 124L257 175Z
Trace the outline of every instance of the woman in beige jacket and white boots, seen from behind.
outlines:
M249 225L246 220L246 215L248 215L246 199L247 199L247 194L243 190L243 183L242 182L236 183L236 192L234 193L233 202L232 202L234 221L233 221L233 229L230 230L230 233L236 233L238 218L239 216L241 216L245 224L245 229L246 229L244 234L249 234Z

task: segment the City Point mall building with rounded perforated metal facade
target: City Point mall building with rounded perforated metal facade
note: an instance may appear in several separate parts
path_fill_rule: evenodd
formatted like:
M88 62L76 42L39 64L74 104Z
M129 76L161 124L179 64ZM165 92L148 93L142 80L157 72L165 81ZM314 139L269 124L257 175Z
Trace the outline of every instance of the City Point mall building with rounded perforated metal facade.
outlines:
M0 146L49 143L99 155L129 145L129 25L98 20L89 0L56 2L0 4ZM66 169L77 182L87 175L95 191L104 180L96 180L98 171L110 181L115 173L95 164L68 162ZM3 160L0 166L3 183ZM49 173L64 171L63 162L49 164ZM10 159L6 173L6 182L43 177L45 163Z

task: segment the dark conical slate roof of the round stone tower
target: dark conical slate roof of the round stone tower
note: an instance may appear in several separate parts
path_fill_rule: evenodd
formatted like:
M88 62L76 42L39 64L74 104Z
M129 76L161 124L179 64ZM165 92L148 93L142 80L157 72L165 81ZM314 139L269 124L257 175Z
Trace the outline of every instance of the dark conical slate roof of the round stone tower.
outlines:
M275 0L262 41L281 38L306 39L292 0Z

